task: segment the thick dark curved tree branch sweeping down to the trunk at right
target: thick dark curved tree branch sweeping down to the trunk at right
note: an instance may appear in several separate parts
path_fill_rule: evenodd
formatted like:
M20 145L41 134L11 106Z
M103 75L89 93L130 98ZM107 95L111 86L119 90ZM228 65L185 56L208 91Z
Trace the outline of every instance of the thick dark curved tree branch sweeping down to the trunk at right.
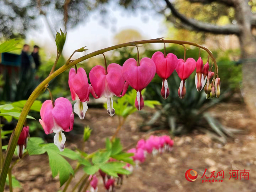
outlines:
M239 25L225 25L225 26L217 26L209 23L197 21L194 19L189 19L185 15L178 12L172 3L169 0L164 0L172 11L172 15L178 18L182 23L192 27L194 30L210 32L213 34L239 34L241 32L241 27ZM206 1L206 0L201 0ZM170 18L167 17L167 20Z

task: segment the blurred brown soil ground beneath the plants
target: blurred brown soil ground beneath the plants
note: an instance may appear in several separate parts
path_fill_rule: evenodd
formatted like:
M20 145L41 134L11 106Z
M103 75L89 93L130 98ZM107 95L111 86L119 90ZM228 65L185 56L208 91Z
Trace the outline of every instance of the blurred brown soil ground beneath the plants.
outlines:
M219 104L211 110L211 114L224 125L250 131L236 135L234 140L229 139L225 145L197 131L174 137L175 143L171 153L149 156L132 175L128 178L124 177L123 185L117 186L116 192L256 191L256 121L249 117L244 104L241 103ZM124 146L129 146L145 134L138 132L142 122L143 119L137 112L128 117L126 124L119 132ZM86 118L77 119L76 123L88 124L93 129L92 136L85 147L85 151L90 153L97 148L104 148L105 138L114 134L118 118L108 116L105 109L89 109ZM81 139L82 134L69 135L66 141L67 147L71 149L81 147ZM74 168L76 167L76 162L70 163ZM212 171L216 173L223 170L224 182L202 183L202 179L199 178L202 177L205 168L207 168L207 177ZM194 182L188 182L185 179L184 175L188 169L196 170L198 173L198 178ZM229 180L229 170L236 169L249 170L250 179L240 180L239 174L238 180L234 178ZM47 155L26 156L15 166L13 175L23 187L14 191L55 192L60 190L58 178L52 178ZM68 191L82 175L83 171L79 170ZM99 192L105 191L100 177L99 186ZM5 191L9 191L8 188Z

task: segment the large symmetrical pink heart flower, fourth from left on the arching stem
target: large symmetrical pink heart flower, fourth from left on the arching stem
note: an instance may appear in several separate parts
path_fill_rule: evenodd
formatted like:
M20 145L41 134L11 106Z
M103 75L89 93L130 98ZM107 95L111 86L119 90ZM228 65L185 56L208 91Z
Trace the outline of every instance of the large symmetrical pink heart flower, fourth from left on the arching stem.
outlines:
M140 66L137 66L137 61L130 58L124 62L122 74L125 81L137 91L135 107L140 111L144 107L141 91L145 89L154 78L156 65L154 61L145 57L140 60Z

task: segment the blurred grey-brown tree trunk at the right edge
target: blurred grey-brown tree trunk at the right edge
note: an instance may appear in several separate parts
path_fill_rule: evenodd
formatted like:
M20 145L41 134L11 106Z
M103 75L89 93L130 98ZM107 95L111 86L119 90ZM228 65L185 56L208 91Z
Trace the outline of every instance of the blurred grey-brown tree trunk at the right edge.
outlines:
M247 0L238 0L236 4L236 20L243 26L239 36L241 58L243 61L243 88L244 102L250 115L256 118L256 40L252 35L251 7Z

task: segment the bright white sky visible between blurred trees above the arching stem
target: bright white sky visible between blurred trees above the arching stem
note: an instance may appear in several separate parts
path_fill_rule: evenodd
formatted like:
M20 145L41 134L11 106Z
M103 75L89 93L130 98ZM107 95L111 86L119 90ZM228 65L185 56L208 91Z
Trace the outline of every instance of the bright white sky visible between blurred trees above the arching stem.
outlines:
M115 45L114 36L124 29L135 29L140 32L142 39L154 39L166 36L167 29L164 26L164 16L155 12L137 11L135 13L124 12L124 9L109 5L111 21L108 27L102 25L97 11L92 12L89 18L78 24L75 28L68 29L67 39L63 50L64 57L69 57L76 49L87 46L93 52L105 47ZM44 16L39 19L40 28L30 30L27 35L27 43L33 43L44 47L46 52L56 52L54 38L47 27ZM48 18L51 22L51 18ZM54 46L53 46L54 45ZM158 48L158 45L154 45ZM86 52L86 53L88 53ZM85 53L76 53L74 58L81 57Z

